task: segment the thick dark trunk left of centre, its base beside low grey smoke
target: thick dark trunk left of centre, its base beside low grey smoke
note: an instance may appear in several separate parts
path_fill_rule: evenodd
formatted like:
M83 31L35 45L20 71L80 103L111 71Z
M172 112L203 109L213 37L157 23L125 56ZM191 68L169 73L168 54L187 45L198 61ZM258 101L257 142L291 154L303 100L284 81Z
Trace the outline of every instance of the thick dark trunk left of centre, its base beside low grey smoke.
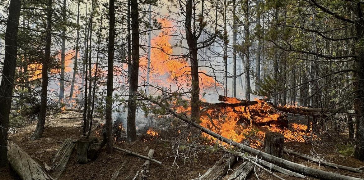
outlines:
M132 62L130 69L130 87L128 99L128 126L127 139L133 142L137 139L135 118L137 110L137 92L139 79L139 11L138 0L130 0L131 8L131 36L132 36Z

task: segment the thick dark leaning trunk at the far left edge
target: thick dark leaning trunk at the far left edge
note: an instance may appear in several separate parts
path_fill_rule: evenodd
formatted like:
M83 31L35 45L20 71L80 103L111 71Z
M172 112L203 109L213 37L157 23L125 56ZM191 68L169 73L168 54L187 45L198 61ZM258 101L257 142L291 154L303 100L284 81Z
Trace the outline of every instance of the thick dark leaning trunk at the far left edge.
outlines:
M17 37L20 17L20 0L11 0L9 5L9 17L5 32L5 59L0 85L0 167L8 165L8 126L11 110L11 98L13 95L13 83L16 69Z

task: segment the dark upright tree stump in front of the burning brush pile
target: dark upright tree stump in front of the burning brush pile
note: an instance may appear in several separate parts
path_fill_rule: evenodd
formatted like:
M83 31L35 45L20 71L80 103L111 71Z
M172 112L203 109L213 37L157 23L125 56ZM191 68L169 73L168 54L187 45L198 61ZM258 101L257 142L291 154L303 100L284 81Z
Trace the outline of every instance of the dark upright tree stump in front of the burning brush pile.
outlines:
M264 152L277 156L278 158L283 157L283 145L284 136L279 132L268 132L265 134L264 140Z

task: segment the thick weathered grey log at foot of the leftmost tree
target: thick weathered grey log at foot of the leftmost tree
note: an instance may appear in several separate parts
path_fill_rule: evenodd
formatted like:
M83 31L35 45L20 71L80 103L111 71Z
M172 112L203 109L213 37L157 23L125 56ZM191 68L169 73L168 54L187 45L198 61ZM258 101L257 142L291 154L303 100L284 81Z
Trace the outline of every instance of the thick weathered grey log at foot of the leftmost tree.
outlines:
M8 141L8 159L12 169L23 180L54 180L14 142Z

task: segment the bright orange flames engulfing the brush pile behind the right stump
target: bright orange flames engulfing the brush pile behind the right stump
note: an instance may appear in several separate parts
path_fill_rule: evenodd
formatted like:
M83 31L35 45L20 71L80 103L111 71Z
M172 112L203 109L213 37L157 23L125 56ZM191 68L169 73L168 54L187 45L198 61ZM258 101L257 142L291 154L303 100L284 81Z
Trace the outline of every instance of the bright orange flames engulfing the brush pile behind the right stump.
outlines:
M248 143L251 147L260 147L260 140L264 140L266 132L280 132L285 142L305 142L316 138L307 131L307 126L299 123L289 123L286 115L273 108L269 103L256 100L249 106L237 106L247 101L222 97L219 106L202 103L201 122L203 127L216 132L236 142ZM212 108L209 108L212 107ZM190 108L176 107L178 113L190 114ZM204 110L206 110L204 112ZM216 138L202 134L208 142L213 143Z

